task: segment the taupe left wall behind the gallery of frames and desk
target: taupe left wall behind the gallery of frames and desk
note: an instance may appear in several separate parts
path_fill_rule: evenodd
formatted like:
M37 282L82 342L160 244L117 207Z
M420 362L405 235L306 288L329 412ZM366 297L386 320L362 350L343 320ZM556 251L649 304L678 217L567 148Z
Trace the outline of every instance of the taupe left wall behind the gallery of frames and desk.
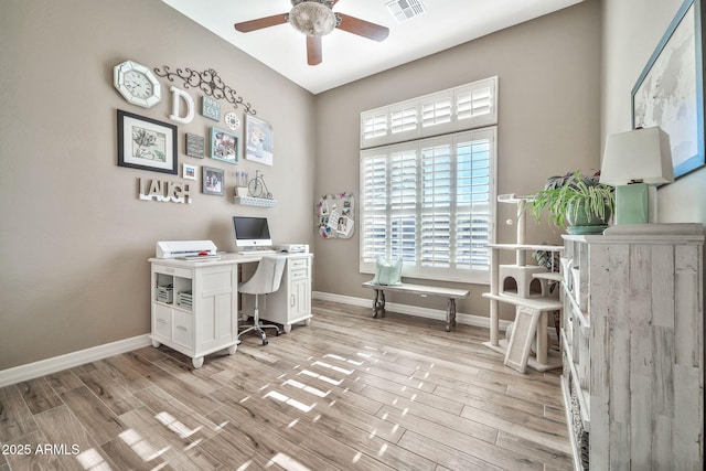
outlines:
M0 370L148 333L157 240L233 251L231 217L253 214L270 217L275 242L313 242L309 92L159 0L0 0ZM118 167L116 109L171 114L168 94L145 109L115 90L113 67L126 60L214 68L272 125L275 165L186 157L184 132L205 137L215 124L196 116L179 125L179 176ZM181 181L183 162L261 169L278 203L234 204L227 176L227 196L191 182L191 205L138 200L139 176Z

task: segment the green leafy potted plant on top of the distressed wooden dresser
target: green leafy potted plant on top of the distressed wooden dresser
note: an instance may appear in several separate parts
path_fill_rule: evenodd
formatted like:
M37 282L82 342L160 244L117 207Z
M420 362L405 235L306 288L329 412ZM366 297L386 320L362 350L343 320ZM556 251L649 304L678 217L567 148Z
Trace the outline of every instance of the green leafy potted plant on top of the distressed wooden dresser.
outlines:
M613 188L599 182L600 172L581 175L580 171L564 176L552 176L544 190L534 194L532 215L542 221L542 213L549 212L549 221L566 227L569 234L600 234L616 208Z

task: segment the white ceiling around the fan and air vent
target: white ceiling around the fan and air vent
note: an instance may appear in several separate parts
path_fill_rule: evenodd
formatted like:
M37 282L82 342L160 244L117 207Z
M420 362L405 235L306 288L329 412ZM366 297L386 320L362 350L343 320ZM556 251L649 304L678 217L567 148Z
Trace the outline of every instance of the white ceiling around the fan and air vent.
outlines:
M289 0L162 0L313 94L425 57L582 0L420 0L426 12L399 23L391 0L340 0L333 11L389 28L378 43L334 30L323 62L307 65L306 38L290 24L240 33L234 23L289 12ZM404 1L404 0L403 0Z

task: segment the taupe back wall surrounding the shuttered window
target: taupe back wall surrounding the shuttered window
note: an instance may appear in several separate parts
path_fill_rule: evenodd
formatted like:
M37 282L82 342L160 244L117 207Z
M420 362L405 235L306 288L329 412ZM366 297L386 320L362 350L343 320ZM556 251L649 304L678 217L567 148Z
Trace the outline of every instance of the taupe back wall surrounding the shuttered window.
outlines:
M317 96L317 195L359 193L360 113L477 79L499 76L498 192L528 194L550 175L600 162L600 2L587 0L434 56ZM515 242L515 207L499 204L500 243ZM528 242L559 243L560 231L527 223ZM359 233L317 238L315 289L370 298L359 272ZM514 257L514 255L513 255ZM321 263L323 261L323 263ZM425 281L428 282L428 281ZM445 283L439 283L445 285ZM458 285L448 286L459 287ZM470 286L459 312L488 315L488 286ZM440 309L440 300L388 297ZM442 302L441 302L442 304ZM506 310L503 317L512 312Z

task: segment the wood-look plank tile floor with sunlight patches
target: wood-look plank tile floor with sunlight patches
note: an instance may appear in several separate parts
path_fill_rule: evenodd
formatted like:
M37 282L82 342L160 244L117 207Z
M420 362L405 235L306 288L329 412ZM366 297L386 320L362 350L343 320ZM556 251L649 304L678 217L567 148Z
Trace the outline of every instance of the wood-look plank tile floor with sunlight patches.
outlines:
M150 346L0 388L0 471L571 469L557 372L485 329L313 311L200 370Z

